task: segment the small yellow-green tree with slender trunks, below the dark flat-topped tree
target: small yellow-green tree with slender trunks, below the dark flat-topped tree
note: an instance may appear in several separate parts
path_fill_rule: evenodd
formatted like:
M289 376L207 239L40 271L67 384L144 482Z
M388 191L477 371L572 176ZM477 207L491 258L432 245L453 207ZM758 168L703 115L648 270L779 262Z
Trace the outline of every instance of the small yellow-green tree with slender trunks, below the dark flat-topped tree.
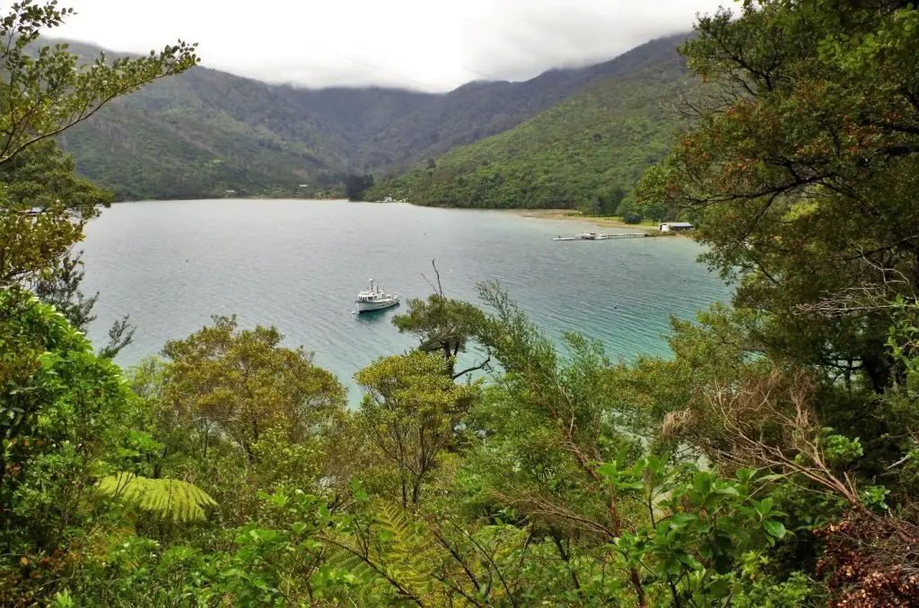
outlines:
M366 389L358 420L399 474L403 507L415 509L438 456L479 393L479 383L454 384L448 362L413 352L385 357L357 373Z

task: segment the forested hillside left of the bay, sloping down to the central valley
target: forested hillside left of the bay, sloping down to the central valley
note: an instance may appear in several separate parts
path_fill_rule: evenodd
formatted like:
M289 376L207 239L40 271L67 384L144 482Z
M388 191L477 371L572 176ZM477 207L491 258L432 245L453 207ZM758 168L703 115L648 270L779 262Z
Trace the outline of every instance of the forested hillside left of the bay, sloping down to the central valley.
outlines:
M89 58L98 50L71 43ZM60 139L77 169L119 198L293 192L345 163L342 134L280 87L207 68L103 107Z

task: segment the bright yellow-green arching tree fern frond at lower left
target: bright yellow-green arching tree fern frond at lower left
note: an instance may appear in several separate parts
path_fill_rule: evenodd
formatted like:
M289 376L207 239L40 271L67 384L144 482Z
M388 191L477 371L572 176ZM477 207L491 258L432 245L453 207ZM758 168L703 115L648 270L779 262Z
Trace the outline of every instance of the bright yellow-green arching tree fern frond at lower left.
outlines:
M176 523L205 519L204 508L216 505L204 490L178 479L148 479L121 472L99 481L98 489L142 511Z

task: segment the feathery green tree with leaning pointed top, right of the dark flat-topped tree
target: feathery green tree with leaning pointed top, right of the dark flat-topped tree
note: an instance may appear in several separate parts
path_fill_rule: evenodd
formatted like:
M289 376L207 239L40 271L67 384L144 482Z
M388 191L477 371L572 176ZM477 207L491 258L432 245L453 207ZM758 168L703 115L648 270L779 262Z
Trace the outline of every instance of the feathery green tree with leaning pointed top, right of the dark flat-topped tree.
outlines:
M488 479L493 500L539 522L567 561L565 545L580 535L611 542L623 534L627 507L615 487L596 490L598 467L633 456L638 428L619 405L600 344L566 333L565 360L497 284L482 284L479 294L493 310L482 342L506 373L473 412L474 428L490 437L473 470ZM647 605L639 570L627 570L638 604Z

